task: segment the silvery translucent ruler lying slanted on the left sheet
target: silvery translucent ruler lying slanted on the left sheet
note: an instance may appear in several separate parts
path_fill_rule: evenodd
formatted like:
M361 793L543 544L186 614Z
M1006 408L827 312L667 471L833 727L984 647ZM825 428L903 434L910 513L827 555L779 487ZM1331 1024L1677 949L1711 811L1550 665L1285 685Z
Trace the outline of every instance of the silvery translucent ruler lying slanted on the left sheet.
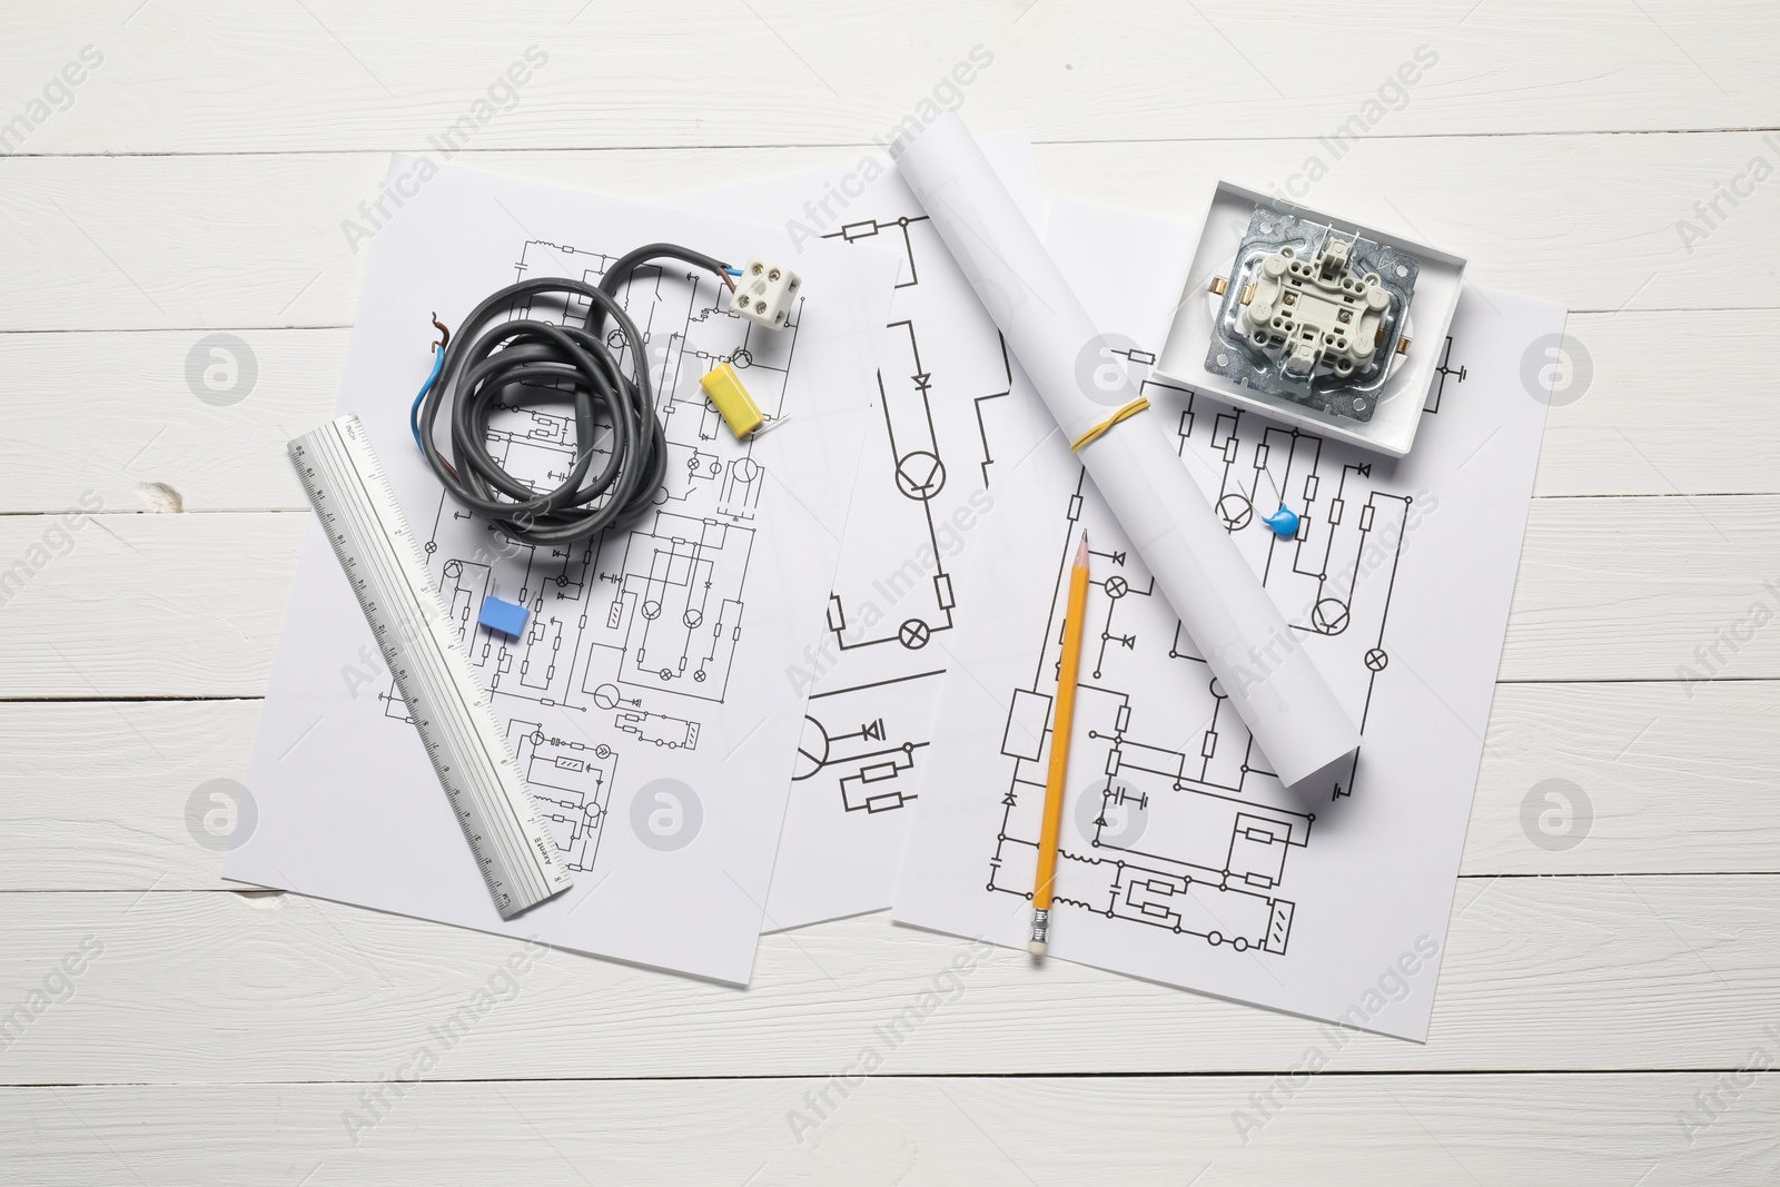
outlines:
M342 416L294 440L290 459L408 701L500 918L568 890L562 854L457 641L365 425L358 416Z

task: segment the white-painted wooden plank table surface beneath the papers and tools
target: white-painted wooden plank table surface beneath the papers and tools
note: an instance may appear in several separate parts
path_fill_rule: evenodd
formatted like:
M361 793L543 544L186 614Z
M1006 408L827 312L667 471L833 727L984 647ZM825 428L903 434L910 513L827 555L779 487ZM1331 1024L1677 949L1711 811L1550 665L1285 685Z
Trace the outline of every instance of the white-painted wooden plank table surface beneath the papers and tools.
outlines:
M1752 616L1780 607L1771 2L105 0L4 25L0 568L27 571L0 605L0 1013L30 1021L0 1050L0 1180L1780 1176L1780 1078L1746 1071L1780 1062L1780 626ZM1308 1021L1006 954L799 1144L787 1112L958 949L867 916L769 936L746 993L555 954L349 1134L511 941L231 890L185 810L246 767L306 514L283 443L333 406L365 260L342 222L534 44L459 164L648 198L824 162L981 44L963 114L1029 130L1052 194L1194 217L1212 178L1319 157L1315 205L1574 310L1593 374L1550 413L1426 1046L1358 1034L1294 1075L1331 1048ZM1419 46L1436 62L1369 109ZM231 404L187 377L215 331L256 365ZM62 537L82 498L103 511ZM1566 849L1522 824L1550 778L1593 810Z

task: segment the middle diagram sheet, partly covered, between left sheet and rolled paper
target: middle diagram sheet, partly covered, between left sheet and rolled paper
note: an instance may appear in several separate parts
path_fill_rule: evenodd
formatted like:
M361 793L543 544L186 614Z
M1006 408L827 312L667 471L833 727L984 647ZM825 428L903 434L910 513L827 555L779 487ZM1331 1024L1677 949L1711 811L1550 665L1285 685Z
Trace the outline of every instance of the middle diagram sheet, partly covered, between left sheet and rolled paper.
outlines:
M1002 133L983 148L1036 224L1029 141ZM879 911L895 892L963 609L954 569L999 498L988 425L1025 377L888 157L682 201L783 222L799 244L897 258L824 630L781 676L810 699L765 929Z

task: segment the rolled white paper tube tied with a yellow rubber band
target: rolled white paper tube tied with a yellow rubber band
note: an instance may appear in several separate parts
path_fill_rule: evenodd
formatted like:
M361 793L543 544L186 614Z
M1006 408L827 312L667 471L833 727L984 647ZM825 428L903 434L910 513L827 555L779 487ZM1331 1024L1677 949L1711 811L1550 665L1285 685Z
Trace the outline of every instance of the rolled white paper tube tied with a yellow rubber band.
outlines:
M890 146L1045 408L1283 783L1346 758L1360 731L1212 514L1136 390L1095 383L1107 338L963 121L942 112ZM1111 425L1107 422L1112 422Z

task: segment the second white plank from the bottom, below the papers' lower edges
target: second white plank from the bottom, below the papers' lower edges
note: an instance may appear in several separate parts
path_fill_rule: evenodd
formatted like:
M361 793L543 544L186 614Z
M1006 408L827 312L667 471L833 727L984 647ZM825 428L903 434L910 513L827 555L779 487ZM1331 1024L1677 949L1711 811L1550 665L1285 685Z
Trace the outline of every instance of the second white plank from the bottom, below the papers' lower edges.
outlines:
M0 904L7 1009L82 943L103 947L5 1050L9 1084L377 1080L522 950L288 893ZM981 954L881 915L764 936L746 991L566 952L518 981L441 1075L826 1077L890 1025L904 1038L888 1075L1276 1071L1314 1045L1337 1071L1716 1070L1780 1023L1780 877L1467 879L1426 1046ZM918 1025L895 1023L936 986Z

